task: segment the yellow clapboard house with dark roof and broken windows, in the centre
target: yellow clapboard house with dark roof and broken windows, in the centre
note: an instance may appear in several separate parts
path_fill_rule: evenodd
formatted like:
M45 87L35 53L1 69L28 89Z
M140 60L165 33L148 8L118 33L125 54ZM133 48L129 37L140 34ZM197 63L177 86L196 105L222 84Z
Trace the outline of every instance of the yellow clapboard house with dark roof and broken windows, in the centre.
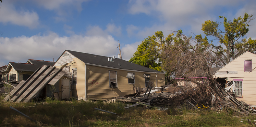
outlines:
M59 82L77 99L111 99L146 88L149 81L154 83L153 87L165 83L164 73L157 70L114 57L70 50L65 50L53 66L72 74L71 82L69 78Z

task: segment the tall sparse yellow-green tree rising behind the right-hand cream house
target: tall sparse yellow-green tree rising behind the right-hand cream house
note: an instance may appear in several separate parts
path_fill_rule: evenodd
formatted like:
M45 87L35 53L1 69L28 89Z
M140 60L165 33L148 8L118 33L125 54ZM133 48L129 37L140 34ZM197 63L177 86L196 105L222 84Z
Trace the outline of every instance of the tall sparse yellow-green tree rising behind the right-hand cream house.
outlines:
M212 44L215 48L215 50L212 51L219 58L219 63L215 64L225 65L244 51L244 49L241 48L242 45L248 47L254 45L251 45L251 43L248 43L244 39L244 36L249 31L248 23L254 19L252 16L253 15L245 13L243 18L238 17L233 20L227 20L226 17L220 16L219 18L223 18L223 23L207 20L202 24L202 30L206 36L215 37L215 39L218 39L219 42L225 46L222 47L221 45ZM222 24L223 27L221 26Z

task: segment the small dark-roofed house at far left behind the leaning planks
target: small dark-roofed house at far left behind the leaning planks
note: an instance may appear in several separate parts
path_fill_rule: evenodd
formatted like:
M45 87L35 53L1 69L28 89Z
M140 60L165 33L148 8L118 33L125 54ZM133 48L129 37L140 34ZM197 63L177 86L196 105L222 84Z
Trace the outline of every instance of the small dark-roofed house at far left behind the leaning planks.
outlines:
M42 65L52 66L54 62L43 60L31 60L26 63L9 62L6 69L1 71L3 81L27 80Z

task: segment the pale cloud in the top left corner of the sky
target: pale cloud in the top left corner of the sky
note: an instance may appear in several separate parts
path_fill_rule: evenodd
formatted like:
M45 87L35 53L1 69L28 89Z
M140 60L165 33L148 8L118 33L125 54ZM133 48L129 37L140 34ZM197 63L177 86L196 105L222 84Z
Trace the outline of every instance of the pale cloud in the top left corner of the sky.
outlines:
M0 11L0 22L2 23L12 23L30 29L36 28L39 25L39 16L36 12L16 10L15 7L8 2L3 2L1 4Z

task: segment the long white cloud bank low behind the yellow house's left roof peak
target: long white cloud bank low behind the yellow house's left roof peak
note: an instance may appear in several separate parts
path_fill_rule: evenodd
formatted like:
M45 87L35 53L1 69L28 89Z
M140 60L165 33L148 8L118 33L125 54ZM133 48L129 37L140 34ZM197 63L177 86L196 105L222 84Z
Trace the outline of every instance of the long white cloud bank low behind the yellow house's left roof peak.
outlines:
M110 35L107 36L58 36L56 33L48 35L34 35L31 37L0 37L0 59L5 64L12 62L26 62L28 59L57 60L65 50L86 52L104 56L113 56L117 52L118 42ZM3 66L0 63L0 66Z

